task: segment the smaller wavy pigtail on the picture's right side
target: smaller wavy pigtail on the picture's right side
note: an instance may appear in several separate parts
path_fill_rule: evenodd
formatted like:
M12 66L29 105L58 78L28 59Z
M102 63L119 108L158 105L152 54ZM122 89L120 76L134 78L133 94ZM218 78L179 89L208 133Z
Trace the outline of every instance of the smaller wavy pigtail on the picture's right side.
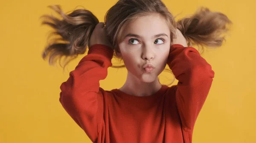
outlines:
M220 47L231 23L226 15L201 8L191 17L179 20L177 28L187 39L188 46Z

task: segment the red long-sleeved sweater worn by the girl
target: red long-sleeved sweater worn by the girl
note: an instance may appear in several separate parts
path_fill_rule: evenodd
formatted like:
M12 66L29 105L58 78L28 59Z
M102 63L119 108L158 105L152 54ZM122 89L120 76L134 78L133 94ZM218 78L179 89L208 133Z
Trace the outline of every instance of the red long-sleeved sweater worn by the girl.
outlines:
M214 72L195 48L172 45L168 65L179 81L151 96L105 91L113 50L93 45L61 84L60 102L94 143L191 143Z

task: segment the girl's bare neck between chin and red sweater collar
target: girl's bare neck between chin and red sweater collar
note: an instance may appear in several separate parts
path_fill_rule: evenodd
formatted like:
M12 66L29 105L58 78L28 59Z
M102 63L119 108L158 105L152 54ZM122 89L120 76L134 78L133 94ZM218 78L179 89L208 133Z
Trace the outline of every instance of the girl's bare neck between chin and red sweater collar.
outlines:
M134 96L150 96L160 90L161 87L162 84L158 79L151 83L145 83L128 72L125 84L119 90Z

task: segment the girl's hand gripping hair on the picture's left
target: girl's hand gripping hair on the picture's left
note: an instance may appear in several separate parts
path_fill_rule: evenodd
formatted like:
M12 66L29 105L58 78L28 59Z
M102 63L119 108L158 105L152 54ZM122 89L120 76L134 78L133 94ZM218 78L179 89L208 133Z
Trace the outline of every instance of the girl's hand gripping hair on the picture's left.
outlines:
M103 22L99 22L94 28L93 33L90 36L88 45L89 48L95 44L102 44L108 46L109 48L112 48L112 45L107 38L106 29L104 25L105 24Z

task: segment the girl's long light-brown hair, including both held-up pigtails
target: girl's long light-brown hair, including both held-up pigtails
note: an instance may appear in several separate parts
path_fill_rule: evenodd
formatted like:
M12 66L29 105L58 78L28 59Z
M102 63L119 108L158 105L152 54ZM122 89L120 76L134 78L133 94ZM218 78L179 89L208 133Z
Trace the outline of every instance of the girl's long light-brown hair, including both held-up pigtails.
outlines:
M65 14L60 6L49 6L57 12L61 19L50 15L42 16L44 25L51 26L54 31L42 54L43 59L49 59L49 64L55 64L61 58L66 59L64 66L79 54L84 54L90 36L99 23L97 17L86 9L77 9ZM107 36L113 50L119 51L118 43L125 26L131 20L147 14L161 14L166 18L171 32L171 40L178 28L187 39L188 45L201 47L218 47L224 41L224 32L231 21L219 12L201 8L190 17L175 21L173 15L161 0L119 0L105 15ZM61 62L60 62L61 64Z

